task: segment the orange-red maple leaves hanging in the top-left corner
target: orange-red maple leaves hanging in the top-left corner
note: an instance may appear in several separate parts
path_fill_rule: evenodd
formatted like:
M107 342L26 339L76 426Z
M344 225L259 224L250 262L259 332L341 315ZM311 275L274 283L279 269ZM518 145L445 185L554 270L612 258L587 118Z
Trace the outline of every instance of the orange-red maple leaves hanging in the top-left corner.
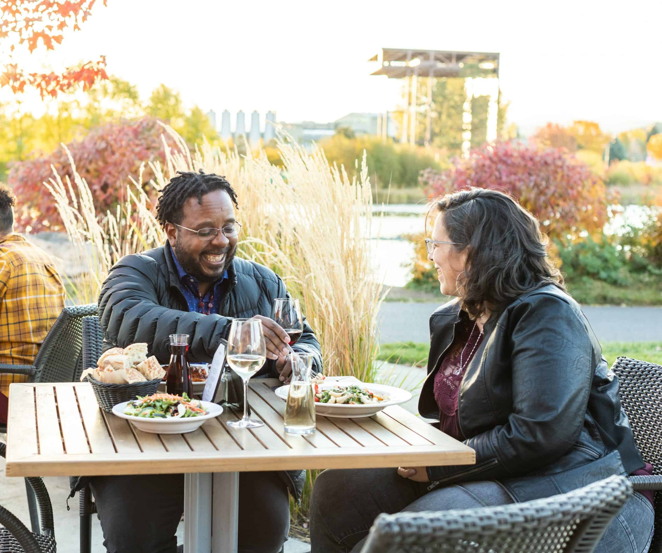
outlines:
M80 30L95 3L96 0L0 0L0 40L3 46L9 44L6 61L0 66L0 87L10 87L15 94L34 88L42 98L54 98L77 84L87 90L97 80L107 79L105 56L64 72L29 72L11 58L17 46L30 53L39 46L54 50L67 28Z

